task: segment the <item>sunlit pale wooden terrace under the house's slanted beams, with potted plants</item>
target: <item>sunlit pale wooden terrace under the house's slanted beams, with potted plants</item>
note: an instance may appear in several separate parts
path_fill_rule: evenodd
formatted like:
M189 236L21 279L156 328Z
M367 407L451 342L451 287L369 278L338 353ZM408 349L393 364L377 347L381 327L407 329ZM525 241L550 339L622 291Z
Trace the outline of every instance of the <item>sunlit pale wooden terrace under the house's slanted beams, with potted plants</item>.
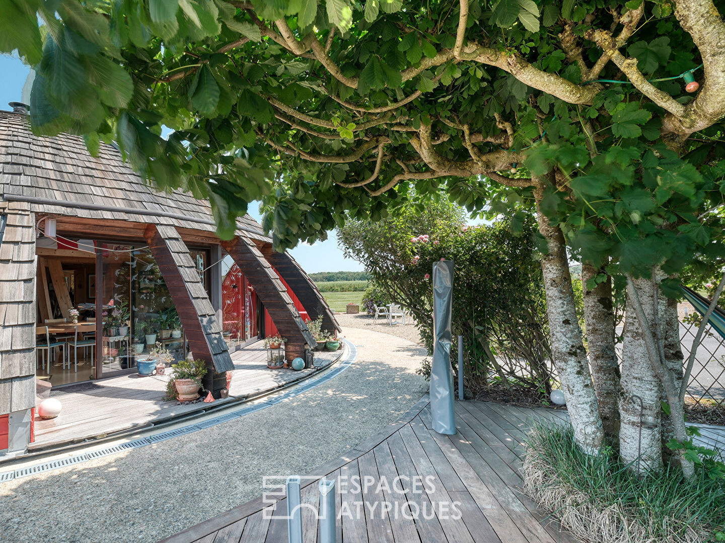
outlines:
M343 350L315 353L315 361L324 360L325 366L339 358ZM127 374L78 387L80 392L52 392L51 397L61 401L63 409L57 418L43 421L36 416L35 442L29 452L49 447L80 442L84 439L105 437L128 429L141 429L149 423L159 424L172 418L191 416L195 411L224 403L239 402L271 392L291 382L310 376L317 369L301 371L268 369L267 352L263 342L232 353L234 371L229 397L214 403L176 405L162 400L168 374L146 376Z

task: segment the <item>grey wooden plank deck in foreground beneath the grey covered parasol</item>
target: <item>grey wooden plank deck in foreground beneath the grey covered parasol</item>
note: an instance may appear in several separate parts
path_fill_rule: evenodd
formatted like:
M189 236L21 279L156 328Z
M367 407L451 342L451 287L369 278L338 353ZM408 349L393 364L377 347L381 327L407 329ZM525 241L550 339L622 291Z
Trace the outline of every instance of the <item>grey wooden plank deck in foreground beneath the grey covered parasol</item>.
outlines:
M317 542L318 481L326 476L336 479L339 543L576 543L519 490L521 442L531 416L564 422L566 413L475 401L457 402L456 411L458 433L436 434L423 398L402 419L303 478L304 542ZM374 482L356 489L346 484L351 477ZM397 477L404 493L394 491ZM405 484L416 478L426 481L424 488ZM285 543L287 523L278 517L286 514L286 498L278 500L270 505L260 497L163 542ZM385 514L383 503L389 504ZM406 503L413 505L401 514Z

